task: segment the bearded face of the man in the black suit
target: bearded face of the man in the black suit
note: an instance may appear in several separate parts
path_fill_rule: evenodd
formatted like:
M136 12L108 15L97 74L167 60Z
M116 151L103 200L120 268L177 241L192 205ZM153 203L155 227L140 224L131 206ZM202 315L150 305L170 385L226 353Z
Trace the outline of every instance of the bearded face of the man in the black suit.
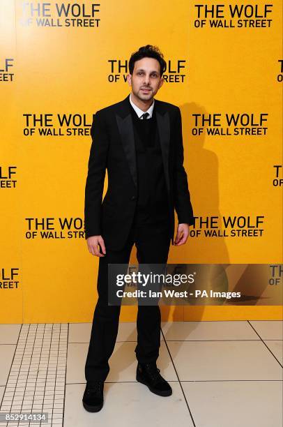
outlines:
M160 77L160 63L154 58L142 58L135 61L132 75L127 76L128 84L140 100L150 100L162 87L163 77Z

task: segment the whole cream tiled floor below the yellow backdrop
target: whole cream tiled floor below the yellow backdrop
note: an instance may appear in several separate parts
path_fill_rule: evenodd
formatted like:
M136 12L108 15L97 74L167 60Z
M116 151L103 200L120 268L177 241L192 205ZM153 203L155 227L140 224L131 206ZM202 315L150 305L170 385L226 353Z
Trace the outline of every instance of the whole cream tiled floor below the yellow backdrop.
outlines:
M90 335L90 323L0 325L0 412L48 412L47 427L282 427L281 321L162 322L167 398L136 382L136 325L121 323L92 414L82 407Z

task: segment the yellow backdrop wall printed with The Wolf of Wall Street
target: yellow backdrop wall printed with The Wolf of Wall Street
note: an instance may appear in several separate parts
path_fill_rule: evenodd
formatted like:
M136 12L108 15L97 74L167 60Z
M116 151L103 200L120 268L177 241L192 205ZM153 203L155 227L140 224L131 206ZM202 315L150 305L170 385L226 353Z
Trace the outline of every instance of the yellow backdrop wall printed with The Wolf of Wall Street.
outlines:
M1 0L0 322L91 321L92 114L129 93L128 59L146 44L167 60L157 98L181 108L198 217L168 262L282 262L282 1L199 3ZM121 320L135 315L123 307ZM162 316L280 319L282 306L162 307Z

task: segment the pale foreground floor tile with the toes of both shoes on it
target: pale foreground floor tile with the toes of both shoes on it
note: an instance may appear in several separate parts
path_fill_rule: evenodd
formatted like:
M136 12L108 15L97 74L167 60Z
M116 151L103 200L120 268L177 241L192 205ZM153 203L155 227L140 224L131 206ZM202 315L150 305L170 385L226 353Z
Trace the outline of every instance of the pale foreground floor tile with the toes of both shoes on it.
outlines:
M144 384L105 383L105 403L100 412L87 412L82 406L84 384L66 386L64 427L142 427L178 425L192 427L190 412L178 382L171 382L173 394L156 396Z

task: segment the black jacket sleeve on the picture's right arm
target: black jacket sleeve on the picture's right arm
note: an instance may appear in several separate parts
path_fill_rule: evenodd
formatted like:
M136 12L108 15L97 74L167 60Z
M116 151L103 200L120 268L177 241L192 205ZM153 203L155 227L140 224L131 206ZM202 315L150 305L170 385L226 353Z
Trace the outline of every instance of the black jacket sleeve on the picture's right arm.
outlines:
M181 111L178 107L175 122L175 163L174 163L174 207L178 223L194 225L194 213L190 201L188 177L183 167L183 137Z

